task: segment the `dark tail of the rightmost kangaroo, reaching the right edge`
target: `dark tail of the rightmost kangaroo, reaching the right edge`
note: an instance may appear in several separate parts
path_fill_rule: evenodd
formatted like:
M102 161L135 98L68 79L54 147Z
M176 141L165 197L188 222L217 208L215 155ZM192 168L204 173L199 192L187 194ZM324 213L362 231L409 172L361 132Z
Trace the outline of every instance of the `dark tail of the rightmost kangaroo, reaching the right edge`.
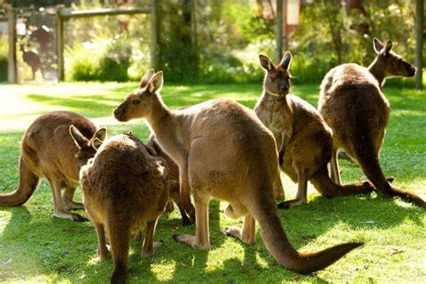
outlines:
M397 188L386 180L385 174L380 168L373 143L364 143L362 149L357 149L355 155L362 171L367 175L368 180L373 183L377 191L390 197L399 196L402 200L426 208L426 203L417 194Z

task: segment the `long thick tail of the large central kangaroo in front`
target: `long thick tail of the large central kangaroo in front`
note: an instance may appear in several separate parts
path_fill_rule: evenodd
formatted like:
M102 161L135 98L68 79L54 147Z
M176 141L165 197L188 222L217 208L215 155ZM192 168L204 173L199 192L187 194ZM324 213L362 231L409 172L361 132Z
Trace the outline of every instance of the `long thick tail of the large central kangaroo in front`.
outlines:
M362 243L339 244L318 253L298 253L289 243L275 204L253 201L250 212L261 226L263 242L267 250L282 266L300 273L322 270ZM271 204L269 204L271 203Z

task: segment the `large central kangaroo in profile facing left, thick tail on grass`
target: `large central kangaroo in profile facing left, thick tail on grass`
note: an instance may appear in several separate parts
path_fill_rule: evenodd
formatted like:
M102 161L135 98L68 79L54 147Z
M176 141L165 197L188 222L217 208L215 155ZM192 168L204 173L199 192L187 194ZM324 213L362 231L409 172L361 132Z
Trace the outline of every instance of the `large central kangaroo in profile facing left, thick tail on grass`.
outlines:
M244 228L227 227L227 235L253 244L257 220L268 251L294 271L324 269L361 245L340 244L319 253L298 253L288 241L275 205L275 140L255 113L225 99L171 111L158 94L163 73L150 71L143 80L148 82L146 87L130 93L114 115L120 121L145 118L158 143L179 165L181 184L191 187L196 235L173 235L176 241L209 250L209 200L216 198L229 202L227 216L244 216Z

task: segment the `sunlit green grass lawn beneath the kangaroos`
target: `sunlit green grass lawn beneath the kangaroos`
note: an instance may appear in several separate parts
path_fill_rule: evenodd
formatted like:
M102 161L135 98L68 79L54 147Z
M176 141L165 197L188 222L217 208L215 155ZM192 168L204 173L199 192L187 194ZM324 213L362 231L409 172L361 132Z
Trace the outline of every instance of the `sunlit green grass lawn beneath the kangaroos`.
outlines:
M82 113L108 129L109 134L133 130L146 138L142 120L119 123L111 111L137 84L57 84L50 86L0 86L0 191L17 184L19 141L31 121L42 113L68 110ZM253 107L260 85L165 86L164 101L171 107L227 97ZM318 88L303 85L294 93L316 105ZM395 184L426 198L425 92L386 88L393 106L382 147L381 162ZM363 179L359 168L341 162L343 182ZM283 175L284 176L284 175ZM296 193L286 177L288 198ZM192 250L173 241L174 233L193 234L193 226L181 226L177 210L161 217L155 239L164 247L149 260L141 260L141 244L133 241L129 253L130 282L424 282L425 214L401 200L371 194L368 197L325 199L312 187L309 203L280 211L289 238L298 250L318 251L333 244L363 241L324 271L299 275L282 268L266 251L261 236L254 245L242 244L220 233L227 225L242 225L221 211L225 202L210 203L211 250ZM81 199L81 191L77 191ZM96 256L96 235L91 223L75 223L53 217L53 202L47 182L19 208L0 208L0 281L106 282L112 271L111 258L104 263ZM83 213L84 214L84 213Z

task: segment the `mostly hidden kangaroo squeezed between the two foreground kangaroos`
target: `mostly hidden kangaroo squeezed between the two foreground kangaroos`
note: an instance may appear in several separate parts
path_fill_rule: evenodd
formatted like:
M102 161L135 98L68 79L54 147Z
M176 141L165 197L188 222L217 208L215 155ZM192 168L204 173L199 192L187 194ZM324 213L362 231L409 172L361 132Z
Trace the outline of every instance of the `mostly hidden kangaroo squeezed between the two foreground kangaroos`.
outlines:
M146 142L146 146L152 148L152 150L149 150L148 148L148 152L152 151L152 155L157 155L159 157L162 157L165 163L167 164L167 170L169 172L169 178L170 178L170 198L174 201L174 203L176 203L179 211L181 212L182 224L191 225L192 222L190 218L186 215L185 209L183 209L183 205L181 202L178 165L174 163L170 155L167 155L164 152L163 148L156 141L155 135L151 135L148 138L148 141ZM173 203L172 203L172 206L173 206Z

